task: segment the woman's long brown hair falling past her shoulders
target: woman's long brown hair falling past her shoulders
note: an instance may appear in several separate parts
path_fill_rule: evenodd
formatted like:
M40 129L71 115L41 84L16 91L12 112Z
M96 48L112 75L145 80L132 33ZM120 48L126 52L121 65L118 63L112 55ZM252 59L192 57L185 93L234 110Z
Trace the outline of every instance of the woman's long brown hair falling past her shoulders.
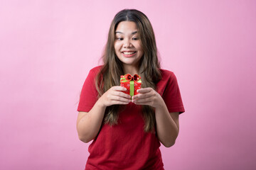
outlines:
M104 64L97 74L95 81L99 98L112 86L119 86L120 76L124 74L122 62L114 53L114 32L118 24L122 21L133 21L137 24L139 40L141 40L142 49L144 50L144 55L139 62L139 75L142 77L142 88L151 87L152 89L156 89L156 84L161 79L154 30L149 19L141 11L124 9L114 16L108 33L105 52L102 56ZM117 124L119 109L120 105L108 106L105 111L104 123L109 125ZM145 122L144 131L154 131L156 124L154 108L151 106L142 106L142 111Z

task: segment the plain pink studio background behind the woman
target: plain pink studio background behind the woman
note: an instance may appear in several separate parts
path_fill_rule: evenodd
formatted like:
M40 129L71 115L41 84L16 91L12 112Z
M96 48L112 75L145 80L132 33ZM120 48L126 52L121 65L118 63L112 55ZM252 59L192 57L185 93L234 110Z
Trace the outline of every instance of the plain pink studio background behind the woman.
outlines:
M114 15L149 17L186 112L165 169L256 169L256 2L1 1L0 169L84 169L80 90Z

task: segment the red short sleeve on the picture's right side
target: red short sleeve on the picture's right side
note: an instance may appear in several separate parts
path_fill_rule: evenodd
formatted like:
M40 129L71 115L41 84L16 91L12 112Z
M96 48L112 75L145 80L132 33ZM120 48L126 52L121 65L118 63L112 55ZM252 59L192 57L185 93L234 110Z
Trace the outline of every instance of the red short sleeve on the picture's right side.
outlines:
M183 102L181 99L181 92L178 88L178 81L174 72L162 70L162 73L163 79L161 80L160 87L162 88L162 97L164 99L164 102L166 103L169 113L184 113L185 109L183 107Z

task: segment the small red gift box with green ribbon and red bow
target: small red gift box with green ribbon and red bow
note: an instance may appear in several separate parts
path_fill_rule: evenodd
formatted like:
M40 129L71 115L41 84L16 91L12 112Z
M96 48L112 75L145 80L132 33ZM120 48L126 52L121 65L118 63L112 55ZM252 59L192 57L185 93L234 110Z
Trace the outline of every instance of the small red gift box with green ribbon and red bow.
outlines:
M127 91L124 91L125 94L134 96L138 94L137 89L142 88L142 79L138 74L125 74L121 76L120 86L125 87Z

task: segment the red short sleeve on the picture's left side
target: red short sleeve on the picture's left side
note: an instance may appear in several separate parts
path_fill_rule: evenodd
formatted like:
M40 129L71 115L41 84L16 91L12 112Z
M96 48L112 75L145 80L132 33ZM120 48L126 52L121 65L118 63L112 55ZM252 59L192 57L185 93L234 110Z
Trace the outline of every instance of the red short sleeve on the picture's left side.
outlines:
M97 72L91 69L82 86L78 111L89 112L97 101L97 89L95 87L95 77Z

